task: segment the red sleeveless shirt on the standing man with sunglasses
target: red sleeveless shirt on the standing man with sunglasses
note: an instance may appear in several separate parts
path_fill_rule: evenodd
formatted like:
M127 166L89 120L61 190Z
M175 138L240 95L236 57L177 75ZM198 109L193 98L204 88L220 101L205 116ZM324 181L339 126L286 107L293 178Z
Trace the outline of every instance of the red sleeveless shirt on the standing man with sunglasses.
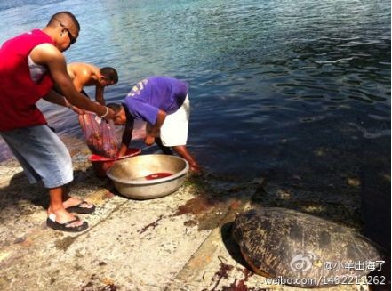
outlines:
M52 77L46 73L36 84L28 68L28 54L45 43L53 44L51 37L35 29L7 40L0 48L0 131L46 124L36 101L52 89Z

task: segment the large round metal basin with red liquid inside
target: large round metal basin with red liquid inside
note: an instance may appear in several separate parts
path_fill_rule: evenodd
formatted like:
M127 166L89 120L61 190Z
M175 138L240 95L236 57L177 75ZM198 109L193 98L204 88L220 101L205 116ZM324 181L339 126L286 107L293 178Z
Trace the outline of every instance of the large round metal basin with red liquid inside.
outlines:
M188 173L184 158L168 155L142 155L124 158L108 169L107 175L127 198L150 199L179 189Z

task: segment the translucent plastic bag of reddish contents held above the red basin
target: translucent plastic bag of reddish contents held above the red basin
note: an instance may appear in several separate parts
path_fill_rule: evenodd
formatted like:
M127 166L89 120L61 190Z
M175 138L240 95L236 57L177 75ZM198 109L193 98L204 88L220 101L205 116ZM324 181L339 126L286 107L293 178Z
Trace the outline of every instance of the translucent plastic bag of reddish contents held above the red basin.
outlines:
M116 158L120 143L113 121L102 119L91 112L79 115L88 148L95 155Z

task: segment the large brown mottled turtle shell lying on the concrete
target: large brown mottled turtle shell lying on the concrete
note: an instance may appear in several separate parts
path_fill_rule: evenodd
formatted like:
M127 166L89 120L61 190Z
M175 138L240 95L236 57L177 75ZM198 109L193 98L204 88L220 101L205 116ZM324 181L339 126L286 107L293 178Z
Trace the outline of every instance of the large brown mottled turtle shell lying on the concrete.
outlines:
M238 214L232 231L253 271L292 286L362 283L384 262L380 247L354 230L289 209Z

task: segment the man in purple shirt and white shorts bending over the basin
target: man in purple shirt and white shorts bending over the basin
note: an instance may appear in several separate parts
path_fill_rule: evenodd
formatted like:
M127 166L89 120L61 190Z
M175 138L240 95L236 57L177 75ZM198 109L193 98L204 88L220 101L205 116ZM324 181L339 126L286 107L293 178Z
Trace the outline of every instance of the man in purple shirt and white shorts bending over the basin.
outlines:
M154 141L171 154L171 148L188 161L194 174L202 171L187 149L189 99L188 85L173 77L148 77L132 87L122 104L110 103L116 125L126 125L119 157L124 156L132 139L134 120L147 122L144 142Z

